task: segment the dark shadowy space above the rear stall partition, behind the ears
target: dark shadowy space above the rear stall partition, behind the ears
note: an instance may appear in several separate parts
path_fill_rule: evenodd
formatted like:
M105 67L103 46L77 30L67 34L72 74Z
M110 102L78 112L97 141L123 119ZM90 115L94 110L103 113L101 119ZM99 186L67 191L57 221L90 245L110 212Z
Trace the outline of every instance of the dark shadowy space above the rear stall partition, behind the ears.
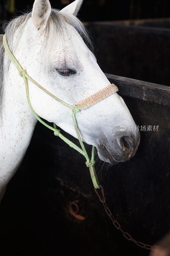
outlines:
M62 9L72 0L51 0L51 6ZM1 20L6 20L19 15L23 11L31 10L33 1L15 0L14 8L10 11L10 0L1 0L2 6L8 5ZM147 19L169 17L170 3L168 0L85 0L78 14L78 18L83 21L92 20L127 20L127 19ZM1 11L2 13L2 11Z

